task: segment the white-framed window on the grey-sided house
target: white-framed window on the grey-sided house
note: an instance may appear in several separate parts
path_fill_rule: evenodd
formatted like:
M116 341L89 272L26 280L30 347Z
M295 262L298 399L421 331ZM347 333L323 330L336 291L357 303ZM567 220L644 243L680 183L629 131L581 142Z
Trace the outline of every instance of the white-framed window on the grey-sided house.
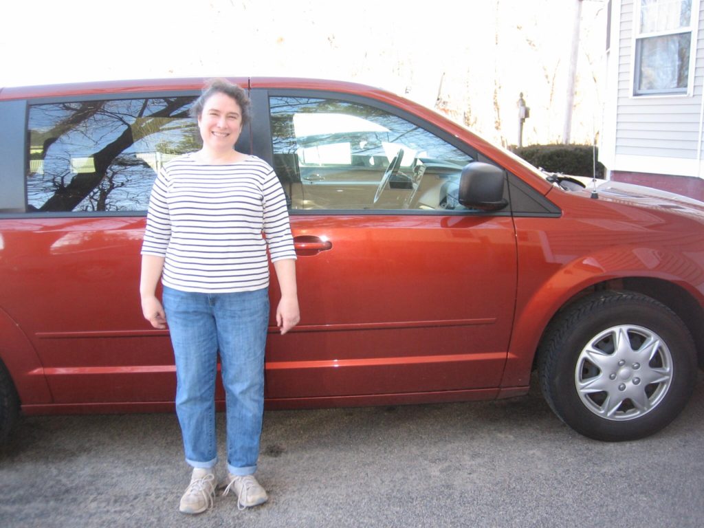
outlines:
M697 0L639 0L634 94L686 94Z

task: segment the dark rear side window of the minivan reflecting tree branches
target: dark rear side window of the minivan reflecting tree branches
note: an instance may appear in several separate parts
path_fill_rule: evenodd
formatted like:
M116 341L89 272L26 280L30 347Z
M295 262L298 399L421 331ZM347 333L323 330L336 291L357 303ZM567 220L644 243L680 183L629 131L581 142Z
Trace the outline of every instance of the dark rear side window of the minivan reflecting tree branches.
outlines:
M28 211L143 211L156 172L198 149L195 97L38 104L29 114Z

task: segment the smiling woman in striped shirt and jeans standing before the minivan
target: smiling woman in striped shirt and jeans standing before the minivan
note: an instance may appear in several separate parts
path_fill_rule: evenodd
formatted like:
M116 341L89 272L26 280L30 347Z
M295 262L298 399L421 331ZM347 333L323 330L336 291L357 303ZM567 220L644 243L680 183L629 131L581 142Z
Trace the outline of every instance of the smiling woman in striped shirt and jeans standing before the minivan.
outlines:
M234 150L250 119L249 99L225 80L208 82L191 113L203 148L158 173L142 246L144 318L170 329L176 412L193 472L183 513L201 513L215 496L215 375L218 353L227 406L227 482L243 509L267 500L253 476L264 401L269 268L285 334L299 320L294 252L284 191L274 170ZM156 297L161 277L163 306Z

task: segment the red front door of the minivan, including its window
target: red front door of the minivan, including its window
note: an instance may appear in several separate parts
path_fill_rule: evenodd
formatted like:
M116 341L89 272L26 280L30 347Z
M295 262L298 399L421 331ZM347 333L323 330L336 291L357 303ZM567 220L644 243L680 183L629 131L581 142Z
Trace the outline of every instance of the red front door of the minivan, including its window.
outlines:
M460 171L478 154L356 97L253 97L270 108L258 133L271 140L255 144L287 192L301 304L300 325L270 335L270 403L495 390L516 246L508 209L458 203Z

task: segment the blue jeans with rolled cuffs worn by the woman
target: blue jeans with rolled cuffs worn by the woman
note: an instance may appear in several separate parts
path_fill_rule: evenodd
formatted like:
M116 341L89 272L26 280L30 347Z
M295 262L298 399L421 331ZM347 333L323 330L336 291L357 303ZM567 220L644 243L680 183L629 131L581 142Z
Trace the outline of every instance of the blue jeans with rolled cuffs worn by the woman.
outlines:
M213 467L218 462L219 352L227 406L227 470L252 474L264 412L268 289L203 294L164 287L163 305L176 360L176 414L186 462L192 467Z

